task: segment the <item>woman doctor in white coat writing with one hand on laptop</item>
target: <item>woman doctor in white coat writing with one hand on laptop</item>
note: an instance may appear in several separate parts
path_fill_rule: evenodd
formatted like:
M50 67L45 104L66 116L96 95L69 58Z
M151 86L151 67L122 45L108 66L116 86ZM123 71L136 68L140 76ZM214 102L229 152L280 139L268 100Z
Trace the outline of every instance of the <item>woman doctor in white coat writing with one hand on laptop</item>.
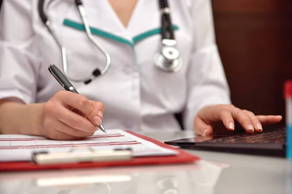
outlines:
M63 90L50 64L80 95ZM282 118L230 103L211 0L3 1L0 133L80 139L101 122L180 130L183 113L183 128L209 135L217 122L254 132Z

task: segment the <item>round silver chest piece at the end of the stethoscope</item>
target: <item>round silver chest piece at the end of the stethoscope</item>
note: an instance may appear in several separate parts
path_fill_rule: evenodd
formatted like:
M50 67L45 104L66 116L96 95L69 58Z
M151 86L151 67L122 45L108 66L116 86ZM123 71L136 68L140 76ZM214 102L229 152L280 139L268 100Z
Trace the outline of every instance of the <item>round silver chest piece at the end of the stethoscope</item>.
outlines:
M183 65L181 52L177 49L177 42L173 39L163 39L160 53L154 57L154 65L166 72L176 73Z

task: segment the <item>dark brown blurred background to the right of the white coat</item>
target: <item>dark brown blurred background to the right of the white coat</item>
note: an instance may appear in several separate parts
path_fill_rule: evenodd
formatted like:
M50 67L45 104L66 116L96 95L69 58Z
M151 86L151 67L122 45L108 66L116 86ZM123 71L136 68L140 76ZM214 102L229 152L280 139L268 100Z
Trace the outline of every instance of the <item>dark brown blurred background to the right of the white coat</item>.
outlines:
M285 118L283 83L292 79L292 0L212 3L232 102L256 114Z

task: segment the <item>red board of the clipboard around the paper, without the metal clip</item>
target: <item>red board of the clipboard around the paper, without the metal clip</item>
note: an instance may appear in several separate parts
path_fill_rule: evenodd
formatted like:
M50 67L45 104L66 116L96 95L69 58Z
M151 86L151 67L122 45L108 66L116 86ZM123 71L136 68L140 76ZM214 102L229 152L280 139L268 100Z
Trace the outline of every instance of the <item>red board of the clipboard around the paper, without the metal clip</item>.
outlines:
M128 133L135 135L141 139L152 142L158 146L176 150L177 155L173 156L150 156L150 157L137 157L130 161L115 161L115 162L81 162L81 163L62 163L62 164L37 164L35 162L0 162L0 171L31 171L31 170L54 170L54 169L68 169L68 168L96 168L96 167L114 167L114 166L135 166L135 165L157 165L157 164L179 164L179 163L191 163L200 160L200 157L191 155L179 148L175 148L166 145L162 142L154 140L127 131Z

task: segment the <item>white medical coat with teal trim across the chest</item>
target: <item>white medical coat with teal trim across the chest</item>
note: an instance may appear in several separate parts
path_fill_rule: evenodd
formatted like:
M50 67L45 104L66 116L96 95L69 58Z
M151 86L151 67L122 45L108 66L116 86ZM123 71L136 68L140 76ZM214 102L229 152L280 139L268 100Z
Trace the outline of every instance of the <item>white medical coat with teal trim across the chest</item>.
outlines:
M229 89L215 42L211 0L168 0L183 67L161 71L153 58L161 49L158 0L138 0L125 28L107 0L84 0L95 38L109 51L108 73L88 85L72 82L91 100L105 104L105 128L134 131L185 129L206 105L229 104ZM4 0L0 12L0 98L46 102L63 88L48 71L62 69L60 49L42 23L37 0ZM50 2L50 3L49 3ZM49 4L49 5L48 5ZM46 14L67 49L69 74L88 76L105 57L81 29L74 0L46 0ZM142 34L142 35L141 35Z

